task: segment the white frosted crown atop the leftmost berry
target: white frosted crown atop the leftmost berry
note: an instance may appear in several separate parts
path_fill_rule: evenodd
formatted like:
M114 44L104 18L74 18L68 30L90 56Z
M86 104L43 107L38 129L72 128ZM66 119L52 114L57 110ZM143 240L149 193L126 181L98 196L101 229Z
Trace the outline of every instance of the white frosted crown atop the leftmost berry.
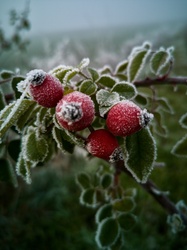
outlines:
M42 69L34 69L27 73L27 81L33 86L41 85L46 77L46 73Z

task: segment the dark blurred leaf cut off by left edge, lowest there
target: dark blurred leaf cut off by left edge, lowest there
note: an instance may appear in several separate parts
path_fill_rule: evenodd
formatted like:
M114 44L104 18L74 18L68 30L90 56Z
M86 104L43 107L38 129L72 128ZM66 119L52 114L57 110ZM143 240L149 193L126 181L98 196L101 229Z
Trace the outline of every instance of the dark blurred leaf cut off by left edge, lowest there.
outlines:
M14 187L18 186L12 164L7 159L0 159L0 181L10 182Z

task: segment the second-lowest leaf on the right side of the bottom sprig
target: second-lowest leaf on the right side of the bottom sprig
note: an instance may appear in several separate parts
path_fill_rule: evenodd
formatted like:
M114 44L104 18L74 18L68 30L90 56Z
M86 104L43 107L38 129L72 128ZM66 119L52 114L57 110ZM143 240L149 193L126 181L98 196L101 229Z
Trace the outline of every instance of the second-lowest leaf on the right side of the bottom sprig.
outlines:
M131 197L123 197L113 201L113 209L119 212L130 212L134 209L135 202Z

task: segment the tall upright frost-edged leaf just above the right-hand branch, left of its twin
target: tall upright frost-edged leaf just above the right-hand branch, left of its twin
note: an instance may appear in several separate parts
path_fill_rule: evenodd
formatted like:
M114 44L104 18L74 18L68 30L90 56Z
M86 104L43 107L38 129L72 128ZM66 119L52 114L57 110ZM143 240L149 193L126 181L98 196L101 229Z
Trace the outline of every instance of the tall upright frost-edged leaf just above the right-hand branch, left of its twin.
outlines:
M127 76L129 82L135 82L137 77L140 75L140 72L142 71L149 54L150 51L147 49L142 49L140 51L137 51L136 53L133 53L127 68Z

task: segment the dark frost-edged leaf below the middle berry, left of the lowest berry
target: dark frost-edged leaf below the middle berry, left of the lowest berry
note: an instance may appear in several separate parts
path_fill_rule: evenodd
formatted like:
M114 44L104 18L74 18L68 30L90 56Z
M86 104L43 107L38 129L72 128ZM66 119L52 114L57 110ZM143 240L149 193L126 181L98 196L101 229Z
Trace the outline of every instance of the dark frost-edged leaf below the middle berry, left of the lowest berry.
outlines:
M74 144L65 139L67 138L67 134L64 132L64 130L53 127L52 136L57 143L57 147L62 152L69 152L70 154L73 153Z

